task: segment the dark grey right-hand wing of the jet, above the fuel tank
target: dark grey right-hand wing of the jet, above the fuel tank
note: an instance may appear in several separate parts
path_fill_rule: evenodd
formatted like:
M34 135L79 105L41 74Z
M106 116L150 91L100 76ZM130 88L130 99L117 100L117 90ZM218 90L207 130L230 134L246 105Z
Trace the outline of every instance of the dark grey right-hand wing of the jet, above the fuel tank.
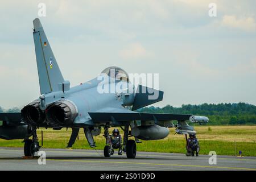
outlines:
M158 113L105 113L105 112L90 112L90 117L94 122L109 122L109 121L186 121L189 120L191 114L158 114Z

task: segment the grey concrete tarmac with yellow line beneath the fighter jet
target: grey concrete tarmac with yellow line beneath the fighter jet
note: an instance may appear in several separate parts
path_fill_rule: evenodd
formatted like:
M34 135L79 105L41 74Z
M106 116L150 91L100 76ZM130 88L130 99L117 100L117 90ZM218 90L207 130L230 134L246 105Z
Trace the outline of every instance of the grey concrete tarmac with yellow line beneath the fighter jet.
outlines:
M23 159L23 148L0 147L0 170L254 170L256 157L217 155L217 164L210 165L208 155L187 157L185 154L137 152L135 159L126 154L105 158L100 150L68 150L42 148L46 165L38 159Z

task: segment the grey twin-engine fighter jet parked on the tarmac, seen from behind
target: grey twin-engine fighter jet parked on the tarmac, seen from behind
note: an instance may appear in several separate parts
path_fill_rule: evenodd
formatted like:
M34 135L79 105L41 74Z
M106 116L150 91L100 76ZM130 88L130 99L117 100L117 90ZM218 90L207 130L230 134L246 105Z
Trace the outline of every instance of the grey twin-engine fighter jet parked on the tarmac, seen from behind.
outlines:
M136 143L141 140L166 138L171 127L178 134L196 133L186 121L208 122L207 117L192 114L139 113L136 110L162 101L163 92L131 84L127 72L118 67L106 68L96 78L71 88L61 74L40 20L36 18L33 24L41 95L24 106L20 113L0 114L1 138L23 138L25 156L34 156L40 150L36 133L39 127L71 128L67 147L75 143L80 129L84 130L90 147L96 147L93 137L104 129L105 157L110 157L113 151L109 128L121 127L123 151L127 158L135 158Z

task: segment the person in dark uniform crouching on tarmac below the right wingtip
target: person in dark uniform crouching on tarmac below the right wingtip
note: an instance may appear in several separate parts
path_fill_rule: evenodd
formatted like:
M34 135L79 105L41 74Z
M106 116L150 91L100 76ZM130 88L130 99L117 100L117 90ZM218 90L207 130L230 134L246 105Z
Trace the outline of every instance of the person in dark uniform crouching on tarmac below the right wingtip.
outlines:
M187 156L199 156L200 151L199 140L196 138L196 134L189 134L187 148Z

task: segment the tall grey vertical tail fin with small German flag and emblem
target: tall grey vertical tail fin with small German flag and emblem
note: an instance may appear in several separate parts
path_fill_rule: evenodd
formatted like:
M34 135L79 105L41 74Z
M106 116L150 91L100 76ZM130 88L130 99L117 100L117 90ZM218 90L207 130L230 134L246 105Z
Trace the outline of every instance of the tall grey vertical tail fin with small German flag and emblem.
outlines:
M59 90L59 84L64 82L64 78L61 75L40 20L38 18L34 19L33 24L40 92L41 94L55 92Z

